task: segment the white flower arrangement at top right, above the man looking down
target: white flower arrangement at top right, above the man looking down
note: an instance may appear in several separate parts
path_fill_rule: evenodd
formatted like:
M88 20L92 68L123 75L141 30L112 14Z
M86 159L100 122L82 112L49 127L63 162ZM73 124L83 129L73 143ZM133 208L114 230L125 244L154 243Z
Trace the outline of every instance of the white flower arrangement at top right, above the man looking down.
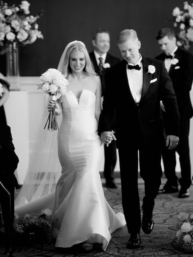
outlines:
M173 9L174 27L178 27L177 45L182 46L186 50L189 49L190 44L193 42L193 4L189 5L184 2L184 10L180 11L179 7Z

